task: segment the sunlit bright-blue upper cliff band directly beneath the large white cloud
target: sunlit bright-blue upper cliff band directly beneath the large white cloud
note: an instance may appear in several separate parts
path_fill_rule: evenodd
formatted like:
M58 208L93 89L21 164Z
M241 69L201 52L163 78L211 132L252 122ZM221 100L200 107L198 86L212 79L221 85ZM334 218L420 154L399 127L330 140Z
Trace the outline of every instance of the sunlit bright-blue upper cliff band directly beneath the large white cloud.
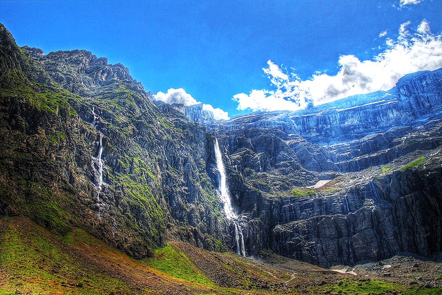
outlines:
M240 116L209 129L279 129L314 144L361 140L442 111L442 69L405 76L390 91L355 95L297 112Z

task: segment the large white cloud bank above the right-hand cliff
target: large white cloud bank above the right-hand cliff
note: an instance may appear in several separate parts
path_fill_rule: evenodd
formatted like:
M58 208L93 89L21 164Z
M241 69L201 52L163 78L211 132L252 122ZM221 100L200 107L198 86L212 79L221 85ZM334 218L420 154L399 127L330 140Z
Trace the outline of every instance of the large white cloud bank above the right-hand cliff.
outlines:
M385 50L373 59L361 61L354 55L341 55L336 75L316 73L302 80L296 73L287 75L267 61L267 68L262 70L276 89L240 93L233 100L238 102L238 110L294 111L310 103L325 104L350 95L386 91L403 75L441 68L441 35L432 35L425 19L415 32L410 32L409 26L410 22L402 23L398 38L387 38Z

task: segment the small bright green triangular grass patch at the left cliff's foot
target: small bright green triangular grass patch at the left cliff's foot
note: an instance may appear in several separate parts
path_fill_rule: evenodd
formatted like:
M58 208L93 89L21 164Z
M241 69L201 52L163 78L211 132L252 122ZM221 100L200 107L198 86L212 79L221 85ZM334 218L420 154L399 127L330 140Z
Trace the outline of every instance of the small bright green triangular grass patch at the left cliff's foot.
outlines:
M211 280L204 276L182 251L169 244L166 247L155 249L155 257L146 258L144 261L147 265L165 274L175 276L175 278L181 278L191 283L214 286Z

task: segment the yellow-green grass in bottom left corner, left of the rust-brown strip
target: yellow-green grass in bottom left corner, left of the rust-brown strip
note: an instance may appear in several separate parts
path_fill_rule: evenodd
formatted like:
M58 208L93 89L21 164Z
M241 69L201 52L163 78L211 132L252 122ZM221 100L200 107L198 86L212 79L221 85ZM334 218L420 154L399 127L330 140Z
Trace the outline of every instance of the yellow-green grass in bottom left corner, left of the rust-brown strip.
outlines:
M2 225L0 264L8 274L6 283L0 283L2 289L19 290L23 294L129 291L124 282L77 259L75 251L41 227L21 218L10 218L3 223L6 225Z

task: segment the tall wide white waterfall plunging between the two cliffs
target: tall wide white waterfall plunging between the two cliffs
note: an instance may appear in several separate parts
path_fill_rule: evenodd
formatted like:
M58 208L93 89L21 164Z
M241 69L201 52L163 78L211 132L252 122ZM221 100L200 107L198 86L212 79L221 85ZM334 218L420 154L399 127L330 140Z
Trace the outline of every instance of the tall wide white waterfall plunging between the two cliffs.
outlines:
M220 192L221 202L224 204L224 213L226 214L227 220L229 220L229 222L231 222L231 224L233 225L233 239L236 248L236 254L245 257L246 250L244 246L244 235L242 234L242 228L240 225L240 216L238 216L233 210L229 187L227 186L226 169L224 167L224 162L222 162L220 144L218 144L218 140L216 138L215 160L218 173L220 173L220 184L218 187L218 191Z

